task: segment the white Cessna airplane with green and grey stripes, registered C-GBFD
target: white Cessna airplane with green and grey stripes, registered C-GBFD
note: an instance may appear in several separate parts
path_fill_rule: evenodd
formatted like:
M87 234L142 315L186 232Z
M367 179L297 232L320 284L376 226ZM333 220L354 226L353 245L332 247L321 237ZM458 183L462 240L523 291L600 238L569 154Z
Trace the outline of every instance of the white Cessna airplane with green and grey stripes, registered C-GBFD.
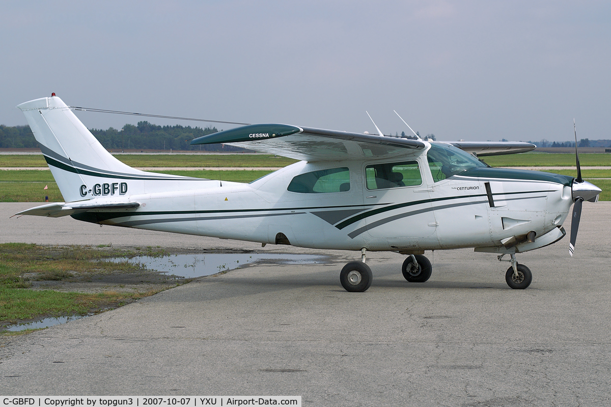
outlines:
M136 170L104 149L60 98L17 106L40 144L65 203L18 215L71 217L100 225L315 249L361 251L340 273L342 286L371 284L366 251L406 254L403 276L431 275L425 250L473 247L509 255L513 289L532 281L515 254L565 236L574 205L573 255L582 201L601 189L581 178L492 168L475 157L512 154L530 143L432 142L383 135L252 124L192 140L299 159L250 184Z

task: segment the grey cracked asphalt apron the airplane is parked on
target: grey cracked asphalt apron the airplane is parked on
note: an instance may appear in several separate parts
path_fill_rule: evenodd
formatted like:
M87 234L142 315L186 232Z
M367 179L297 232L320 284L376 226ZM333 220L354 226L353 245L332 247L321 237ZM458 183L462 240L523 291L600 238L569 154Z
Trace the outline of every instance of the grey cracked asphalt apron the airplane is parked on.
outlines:
M1 242L301 248L9 216ZM370 253L373 283L342 289L343 262L255 265L197 279L114 311L0 339L4 395L301 395L303 405L600 406L611 394L611 203L584 203L568 236L518 254L533 283L511 290L506 262L436 251L422 284L403 256ZM570 225L565 223L567 231Z

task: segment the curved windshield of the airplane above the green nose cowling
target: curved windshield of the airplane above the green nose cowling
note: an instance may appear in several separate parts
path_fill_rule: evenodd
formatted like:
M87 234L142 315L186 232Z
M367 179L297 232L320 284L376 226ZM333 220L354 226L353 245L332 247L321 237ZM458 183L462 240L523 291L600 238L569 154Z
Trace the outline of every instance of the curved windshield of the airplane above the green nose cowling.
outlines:
M431 168L434 182L450 178L471 168L487 167L477 157L465 153L451 144L431 143L431 149L426 153L426 159Z

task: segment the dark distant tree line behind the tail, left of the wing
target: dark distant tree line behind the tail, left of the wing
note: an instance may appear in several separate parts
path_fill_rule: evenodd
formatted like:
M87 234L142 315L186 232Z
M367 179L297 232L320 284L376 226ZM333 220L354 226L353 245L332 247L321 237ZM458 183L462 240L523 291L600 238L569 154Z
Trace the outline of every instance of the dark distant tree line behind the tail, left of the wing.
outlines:
M139 121L137 126L125 124L122 129L89 129L104 148L112 151L124 149L244 151L230 145L191 145L191 139L218 132L213 128L191 126L157 126L148 121ZM36 148L38 143L30 126L4 126L0 124L0 148Z

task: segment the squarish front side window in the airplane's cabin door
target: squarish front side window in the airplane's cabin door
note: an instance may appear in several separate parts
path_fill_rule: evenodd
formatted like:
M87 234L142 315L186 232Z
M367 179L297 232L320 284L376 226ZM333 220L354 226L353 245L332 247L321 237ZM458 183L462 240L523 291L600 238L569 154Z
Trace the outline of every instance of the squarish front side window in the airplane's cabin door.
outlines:
M414 187L422 184L416 161L389 162L365 167L367 189Z

